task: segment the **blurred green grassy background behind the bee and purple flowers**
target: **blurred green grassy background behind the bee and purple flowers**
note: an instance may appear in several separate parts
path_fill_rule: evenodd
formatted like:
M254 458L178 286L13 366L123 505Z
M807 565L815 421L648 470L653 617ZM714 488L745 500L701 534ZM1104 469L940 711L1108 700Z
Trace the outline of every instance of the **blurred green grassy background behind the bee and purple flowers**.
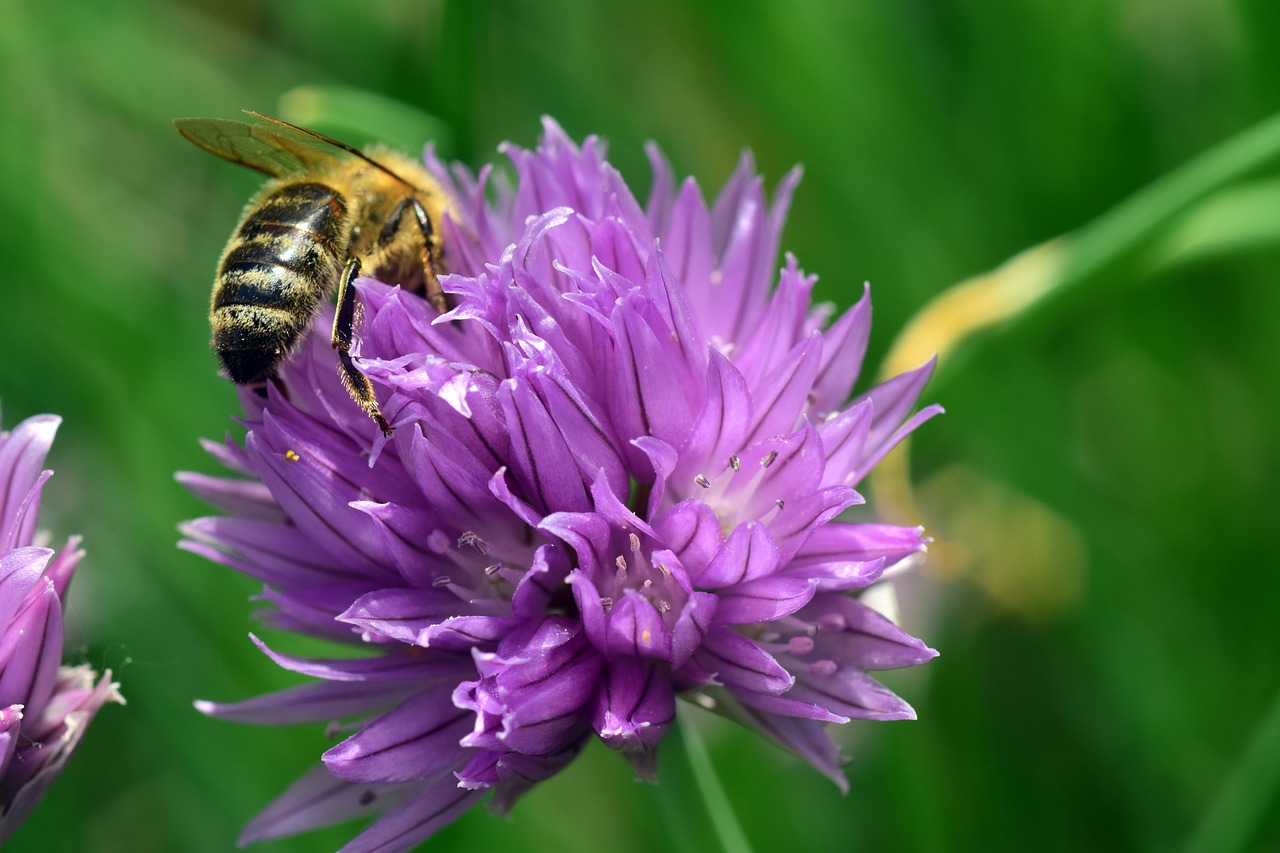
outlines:
M607 138L641 197L645 140L708 192L744 146L771 183L804 164L783 245L823 298L872 282L874 365L950 284L1280 109L1274 0L0 0L0 20L4 425L65 418L42 526L90 552L68 656L129 702L19 850L227 850L328 743L191 707L296 679L246 639L255 585L174 548L206 510L173 473L216 470L197 438L233 428L205 311L257 181L173 118L349 87L389 101L328 129L479 165L549 114ZM1276 177L943 362L925 397L948 414L913 452L938 543L901 592L941 657L886 679L920 720L846 726L846 797L708 725L758 852L1280 849ZM678 749L663 774L593 748L428 849L717 849Z

